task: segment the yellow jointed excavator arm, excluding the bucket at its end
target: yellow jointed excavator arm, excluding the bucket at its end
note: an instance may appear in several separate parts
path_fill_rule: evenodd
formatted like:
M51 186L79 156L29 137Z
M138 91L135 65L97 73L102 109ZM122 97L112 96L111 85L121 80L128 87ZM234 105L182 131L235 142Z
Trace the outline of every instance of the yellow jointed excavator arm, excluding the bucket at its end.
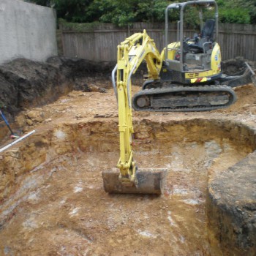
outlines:
M154 41L143 33L133 34L118 45L116 92L118 98L118 127L120 133L120 159L117 167L123 182L134 182L135 162L132 153L131 77L143 60L148 67L148 78L158 79L162 61Z

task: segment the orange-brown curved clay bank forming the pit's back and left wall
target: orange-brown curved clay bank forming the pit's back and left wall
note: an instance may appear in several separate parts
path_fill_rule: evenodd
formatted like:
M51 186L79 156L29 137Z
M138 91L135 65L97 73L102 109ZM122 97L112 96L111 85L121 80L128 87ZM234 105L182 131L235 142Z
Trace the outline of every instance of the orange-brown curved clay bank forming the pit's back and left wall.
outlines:
M47 131L37 130L19 148L11 148L1 155L0 202L3 203L18 190L21 177L29 176L40 165L61 154L76 151L118 151L117 126L117 122L113 120L89 121L61 124L57 127L49 125ZM153 150L154 141L162 141L162 145L167 147L173 141L183 141L184 138L187 142L229 138L249 151L256 148L255 130L229 121L194 119L157 123L143 120L135 121L134 126L135 151L138 148ZM199 138L198 131L202 129Z

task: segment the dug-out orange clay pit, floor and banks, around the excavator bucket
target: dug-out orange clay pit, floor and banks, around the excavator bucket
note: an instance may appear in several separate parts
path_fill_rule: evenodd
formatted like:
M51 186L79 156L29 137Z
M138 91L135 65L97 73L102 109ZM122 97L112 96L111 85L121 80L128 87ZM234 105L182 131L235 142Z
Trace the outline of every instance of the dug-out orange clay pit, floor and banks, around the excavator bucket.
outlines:
M225 118L154 117L135 118L135 160L167 168L161 196L104 192L101 172L118 161L115 116L49 124L1 154L0 255L233 252L218 244L211 184L252 155L255 129Z

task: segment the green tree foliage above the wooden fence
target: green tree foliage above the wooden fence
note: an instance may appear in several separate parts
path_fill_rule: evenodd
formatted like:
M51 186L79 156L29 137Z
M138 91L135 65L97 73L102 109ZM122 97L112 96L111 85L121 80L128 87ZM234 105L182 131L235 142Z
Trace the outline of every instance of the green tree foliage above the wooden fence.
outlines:
M58 18L77 23L115 23L126 26L136 21L162 22L165 8L182 0L27 0L56 8ZM183 0L186 1L186 0ZM223 23L256 24L255 0L217 0Z

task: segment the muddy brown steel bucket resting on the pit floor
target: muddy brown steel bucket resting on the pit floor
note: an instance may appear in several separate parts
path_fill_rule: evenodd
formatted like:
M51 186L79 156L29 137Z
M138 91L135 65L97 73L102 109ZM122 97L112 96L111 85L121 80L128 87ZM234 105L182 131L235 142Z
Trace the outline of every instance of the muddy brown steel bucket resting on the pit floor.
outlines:
M121 182L120 170L104 170L102 172L105 192L124 194L157 194L160 195L165 189L167 169L141 168L136 171L134 183Z

